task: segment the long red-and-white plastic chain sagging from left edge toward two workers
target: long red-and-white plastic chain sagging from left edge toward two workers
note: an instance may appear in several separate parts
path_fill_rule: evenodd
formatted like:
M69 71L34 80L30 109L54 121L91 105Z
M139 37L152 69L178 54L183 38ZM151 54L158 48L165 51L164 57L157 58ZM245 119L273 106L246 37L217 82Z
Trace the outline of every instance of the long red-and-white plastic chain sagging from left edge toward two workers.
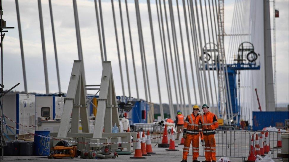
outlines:
M3 121L2 121L2 122L3 122ZM27 132L27 131L25 131L25 130L21 130L21 129L12 127L12 126L10 126L10 125L7 125L7 124L4 123L4 122L3 122L3 125L5 125L5 126L7 126L7 127L9 127L9 128L15 129L15 130L19 130L19 131L22 131L22 132L26 132L26 133L31 134L31 135L37 135L37 136L43 137L43 138L48 138L48 139L51 139L51 140L59 140L59 141L65 141L65 142L70 142L70 143L82 143L82 144L104 144L104 145L112 145L112 144L120 144L120 143L134 143L134 142L139 142L139 141L142 141L142 142L144 143L144 142L146 142L147 140L158 139L158 138L167 137L168 135L171 135L171 134L168 134L168 135L153 137L153 138L149 138L149 139L145 139L145 140L136 140L136 141L130 141L130 142L94 143L94 142L78 142L78 141L63 140L63 139L58 139L58 138L53 138L53 137L47 137L47 136L38 135L38 134L35 134L35 133ZM183 132L183 131L179 131L179 132L181 133L181 132ZM176 133L177 133L177 132L176 132ZM174 132L173 135L176 134L176 133Z

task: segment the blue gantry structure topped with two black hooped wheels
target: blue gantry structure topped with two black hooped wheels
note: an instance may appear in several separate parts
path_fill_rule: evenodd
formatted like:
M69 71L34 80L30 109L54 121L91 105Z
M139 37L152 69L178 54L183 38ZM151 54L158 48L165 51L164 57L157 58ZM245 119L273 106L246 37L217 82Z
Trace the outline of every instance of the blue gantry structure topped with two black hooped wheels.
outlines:
M218 61L219 53L217 53L215 47L216 45L214 45L213 43L207 43L203 48L205 61L209 61L211 58L214 59L212 60L212 62L208 64L209 65L208 67L205 67L205 69L221 71L221 68L220 68L221 66L219 65L219 61ZM210 56L208 57L210 59L206 59L206 55ZM260 70L260 61L257 62L258 55L259 54L257 54L254 51L254 45L251 42L242 42L239 45L237 55L234 56L235 57L234 63L226 65L227 74L225 73L225 75L228 75L228 81L225 79L225 83L227 87L229 87L228 91L230 91L230 93L229 92L227 93L228 95L229 94L231 95L231 103L232 103L232 114L228 113L226 115L232 116L233 117L232 119L235 124L239 124L239 120L240 120L240 71ZM238 82L238 86L237 86L237 82ZM219 97L219 100L220 100L220 97ZM221 111L220 109L221 107L219 105L219 111ZM227 107L227 109L229 109L229 107ZM222 118L229 119L229 117L222 117Z

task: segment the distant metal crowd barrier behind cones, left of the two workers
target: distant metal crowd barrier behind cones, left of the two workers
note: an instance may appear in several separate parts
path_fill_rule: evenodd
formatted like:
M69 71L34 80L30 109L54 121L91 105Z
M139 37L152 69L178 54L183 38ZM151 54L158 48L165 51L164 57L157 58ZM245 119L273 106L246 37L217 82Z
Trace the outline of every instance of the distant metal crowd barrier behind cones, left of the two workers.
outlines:
M132 129L133 132L145 131L145 133L147 133L147 130L150 131L150 137L151 138L158 137L158 136L162 135L161 125L158 125L158 124L136 124L136 125L134 125L134 129ZM151 142L157 143L157 142L159 142L159 140L160 140L160 138L152 139Z

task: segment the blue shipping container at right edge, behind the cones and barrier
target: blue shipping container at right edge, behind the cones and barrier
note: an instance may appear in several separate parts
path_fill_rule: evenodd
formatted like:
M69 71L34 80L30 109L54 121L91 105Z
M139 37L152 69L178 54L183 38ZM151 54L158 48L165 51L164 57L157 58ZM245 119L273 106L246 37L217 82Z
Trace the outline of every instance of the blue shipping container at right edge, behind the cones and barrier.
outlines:
M253 112L253 131L262 130L264 127L275 127L276 122L284 123L289 118L288 111Z

